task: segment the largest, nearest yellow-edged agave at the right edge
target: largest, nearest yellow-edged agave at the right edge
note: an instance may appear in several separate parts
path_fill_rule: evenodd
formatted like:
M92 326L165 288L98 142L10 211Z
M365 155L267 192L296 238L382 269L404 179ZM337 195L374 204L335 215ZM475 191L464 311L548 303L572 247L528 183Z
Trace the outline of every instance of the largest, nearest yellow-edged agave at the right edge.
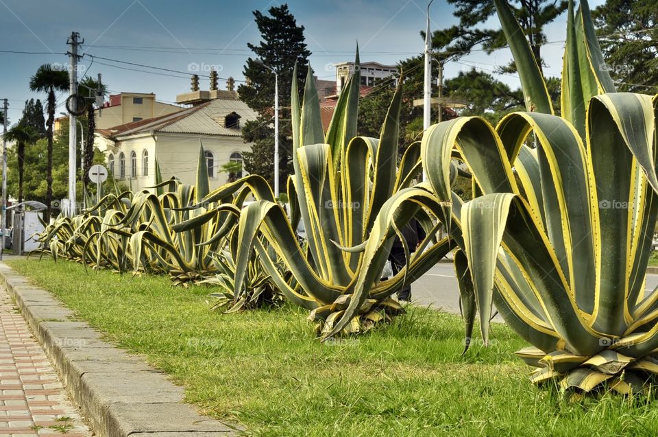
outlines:
M568 9L561 116L507 3L496 9L528 112L432 126L422 160L432 191L453 200L452 237L467 337L488 340L492 302L533 346L532 381L588 392L604 381L639 392L658 373L658 292L645 290L658 214L656 98L616 93L587 1ZM528 147L534 133L535 147ZM475 193L450 194L450 157Z

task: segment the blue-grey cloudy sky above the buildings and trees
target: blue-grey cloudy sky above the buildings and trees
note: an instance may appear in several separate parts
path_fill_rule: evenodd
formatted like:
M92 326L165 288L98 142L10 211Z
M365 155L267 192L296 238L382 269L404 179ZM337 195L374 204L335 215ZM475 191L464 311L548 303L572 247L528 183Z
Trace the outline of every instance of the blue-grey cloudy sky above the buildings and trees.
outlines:
M602 1L592 0L590 6L594 8ZM247 43L258 43L260 37L252 11L265 12L273 5L280 3L273 0L0 0L0 40L3 42L0 49L48 53L0 53L0 98L10 99L10 119L16 121L25 99L43 97L29 91L29 77L42 63L67 62L65 56L50 53L69 49L66 37L72 30L80 32L85 42L83 50L88 54L182 72L197 65L201 70L215 65L220 78L233 76L243 80L243 64L250 54ZM310 62L319 78L334 78L332 64L352 60L357 40L364 61L395 64L423 49L419 31L425 26L426 1L292 0L288 5L297 23L306 27L306 43L313 52ZM548 40L557 41L544 47L542 52L548 62L548 75L559 75L561 69L563 43L560 41L565 38L565 15L546 29ZM432 3L430 19L432 29L456 23L452 6L441 0ZM510 57L507 49L491 56L474 52L459 64L449 64L446 78L472 66L492 70ZM175 95L189 89L188 76L180 73L100 59L92 63L88 57L82 64L81 71L86 74L95 77L102 73L103 82L111 93L152 92L158 100L173 102ZM518 86L514 76L498 78ZM223 80L220 80L220 87L224 87ZM207 80L202 80L201 88L208 88Z

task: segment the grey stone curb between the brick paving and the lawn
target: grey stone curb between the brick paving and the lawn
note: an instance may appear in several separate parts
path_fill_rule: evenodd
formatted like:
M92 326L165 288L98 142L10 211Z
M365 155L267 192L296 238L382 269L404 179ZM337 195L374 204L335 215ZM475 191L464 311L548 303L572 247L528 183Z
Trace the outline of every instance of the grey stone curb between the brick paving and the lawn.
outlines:
M86 322L49 292L0 263L0 284L14 298L38 342L51 357L71 398L99 437L215 437L239 435L183 403L184 390L101 340Z

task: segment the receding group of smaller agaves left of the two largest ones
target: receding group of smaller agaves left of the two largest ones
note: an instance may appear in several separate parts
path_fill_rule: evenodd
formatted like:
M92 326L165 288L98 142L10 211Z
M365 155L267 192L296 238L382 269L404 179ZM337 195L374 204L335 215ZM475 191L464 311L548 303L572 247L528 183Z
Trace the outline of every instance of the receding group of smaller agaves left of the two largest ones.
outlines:
M215 308L232 304L228 311L280 301L282 295L260 268L258 257L249 261L247 269L249 293L240 298L232 293L234 231L243 202L254 191L249 182L245 181L247 187L229 190L212 205L199 207L209 191L203 145L195 185L182 184L176 178L161 179L156 161L154 192L119 191L114 185L114 193L84 213L60 215L38 236L41 255L50 254L55 261L78 261L94 269L169 274L175 285L215 284L222 290L213 294L218 298ZM256 182L267 189L263 180ZM197 207L189 209L191 205Z

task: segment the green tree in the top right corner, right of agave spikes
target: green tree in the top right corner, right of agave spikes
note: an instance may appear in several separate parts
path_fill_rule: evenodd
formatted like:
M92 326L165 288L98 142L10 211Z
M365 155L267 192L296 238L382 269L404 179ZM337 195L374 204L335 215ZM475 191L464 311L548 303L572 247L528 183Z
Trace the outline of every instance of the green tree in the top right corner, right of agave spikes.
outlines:
M596 33L618 91L658 93L658 3L607 0L593 12Z

